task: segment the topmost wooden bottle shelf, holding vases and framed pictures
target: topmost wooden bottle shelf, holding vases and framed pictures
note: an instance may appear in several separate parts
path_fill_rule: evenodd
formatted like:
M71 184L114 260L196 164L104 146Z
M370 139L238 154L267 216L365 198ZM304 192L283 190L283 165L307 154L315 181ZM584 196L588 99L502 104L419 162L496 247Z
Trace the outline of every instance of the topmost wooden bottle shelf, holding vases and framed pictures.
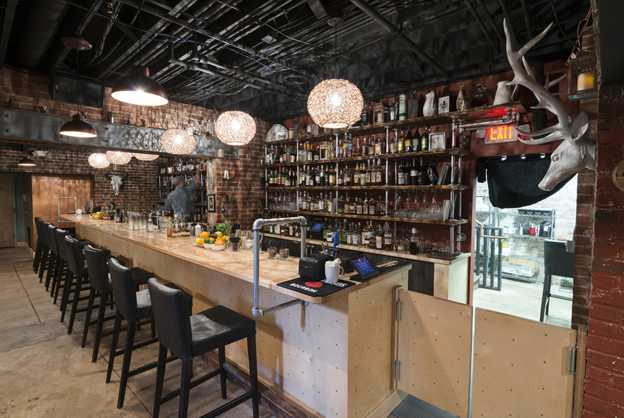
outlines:
M318 135L310 135L309 137L297 137L293 139L283 139L281 141L267 142L266 145L281 145L285 143L300 142L321 142L326 141L330 137L335 137L336 134L343 136L345 133L350 133L354 137L358 137L365 134L374 134L385 132L385 128L390 130L405 129L408 126L422 126L422 125L450 125L453 123L453 119L461 121L477 121L479 119L489 119L496 117L503 117L507 114L508 108L512 108L516 113L526 113L526 109L520 102L508 103L507 105L485 106L476 107L475 109L460 110L458 112L449 112L442 114L434 114L432 116L420 116L418 118L406 119L405 121L394 121L386 123L376 123L375 125L361 126L357 128L349 128L340 131L322 133Z

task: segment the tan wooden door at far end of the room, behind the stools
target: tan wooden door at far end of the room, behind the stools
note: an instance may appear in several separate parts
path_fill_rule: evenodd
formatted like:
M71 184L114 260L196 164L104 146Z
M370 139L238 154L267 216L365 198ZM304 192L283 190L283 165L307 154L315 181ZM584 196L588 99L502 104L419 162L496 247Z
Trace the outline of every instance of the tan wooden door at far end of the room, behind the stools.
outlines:
M92 179L88 175L33 174L32 184L33 218L39 216L46 222L53 223L60 228L71 228L74 227L74 224L58 222L59 197L78 198L78 208L84 207L85 202L91 199ZM74 210L73 199L62 199L60 209L61 214L72 213Z

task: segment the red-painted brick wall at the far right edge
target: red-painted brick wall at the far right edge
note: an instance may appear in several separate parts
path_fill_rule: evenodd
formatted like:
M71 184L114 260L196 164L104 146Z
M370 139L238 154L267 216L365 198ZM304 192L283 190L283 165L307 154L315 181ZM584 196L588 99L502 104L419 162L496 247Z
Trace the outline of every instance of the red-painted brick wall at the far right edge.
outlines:
M624 416L624 193L611 176L624 157L624 85L600 87L596 213L584 417Z

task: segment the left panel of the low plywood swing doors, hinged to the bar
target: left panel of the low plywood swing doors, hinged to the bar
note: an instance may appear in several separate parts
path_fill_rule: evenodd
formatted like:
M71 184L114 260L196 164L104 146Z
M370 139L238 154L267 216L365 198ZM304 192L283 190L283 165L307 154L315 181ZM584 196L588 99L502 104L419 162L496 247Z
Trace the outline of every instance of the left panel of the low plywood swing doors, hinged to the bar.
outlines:
M401 290L398 389L468 416L472 307Z

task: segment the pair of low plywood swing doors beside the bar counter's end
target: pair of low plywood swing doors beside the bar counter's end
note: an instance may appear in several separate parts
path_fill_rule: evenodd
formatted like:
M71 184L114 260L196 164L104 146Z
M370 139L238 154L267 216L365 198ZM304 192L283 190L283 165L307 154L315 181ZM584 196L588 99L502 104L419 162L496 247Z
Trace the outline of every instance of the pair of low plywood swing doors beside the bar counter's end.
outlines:
M408 290L399 297L399 390L462 418L572 416L575 330Z

